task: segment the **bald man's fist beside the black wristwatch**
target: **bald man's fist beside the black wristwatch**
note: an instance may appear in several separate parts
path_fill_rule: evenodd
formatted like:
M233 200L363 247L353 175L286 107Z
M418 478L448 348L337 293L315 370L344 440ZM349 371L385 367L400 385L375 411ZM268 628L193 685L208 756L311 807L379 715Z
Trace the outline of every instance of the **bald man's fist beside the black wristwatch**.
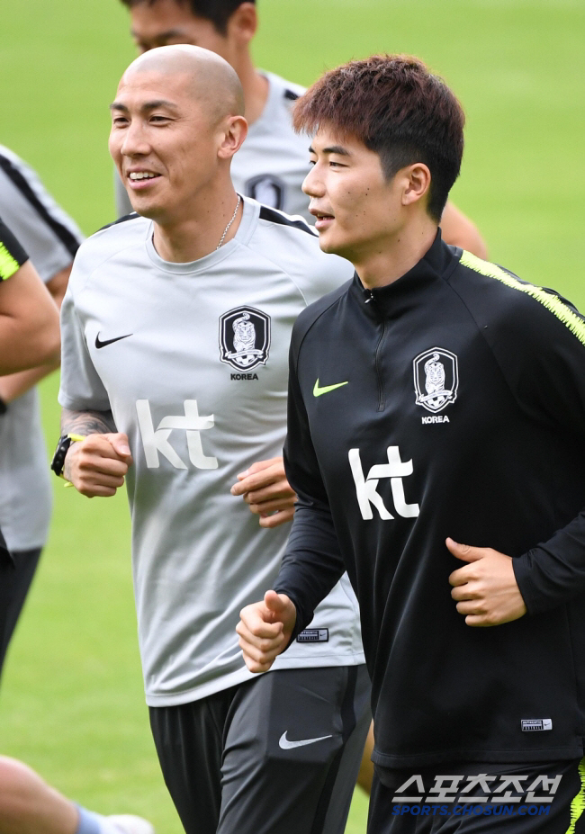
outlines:
M87 498L116 494L132 462L127 435L87 435L69 446L63 474Z

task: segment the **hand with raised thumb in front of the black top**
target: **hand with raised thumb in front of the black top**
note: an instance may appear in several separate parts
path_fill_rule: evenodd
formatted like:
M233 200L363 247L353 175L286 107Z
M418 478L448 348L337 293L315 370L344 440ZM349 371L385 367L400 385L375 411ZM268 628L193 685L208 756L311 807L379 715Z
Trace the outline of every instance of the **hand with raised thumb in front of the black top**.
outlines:
M501 625L527 613L510 556L491 547L458 544L453 539L447 539L446 546L457 559L468 562L449 577L451 596L467 625Z

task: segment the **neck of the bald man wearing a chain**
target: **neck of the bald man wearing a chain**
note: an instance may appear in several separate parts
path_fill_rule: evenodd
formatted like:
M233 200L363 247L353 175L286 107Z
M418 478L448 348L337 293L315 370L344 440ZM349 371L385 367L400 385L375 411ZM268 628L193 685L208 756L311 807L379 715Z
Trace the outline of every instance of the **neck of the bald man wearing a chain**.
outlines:
M229 222L228 232L223 238L225 246L238 231L243 206L238 204L238 194L233 186L220 194L206 196L199 206L181 218L155 219L153 243L157 254L174 264L188 264L210 255L219 246L221 237Z

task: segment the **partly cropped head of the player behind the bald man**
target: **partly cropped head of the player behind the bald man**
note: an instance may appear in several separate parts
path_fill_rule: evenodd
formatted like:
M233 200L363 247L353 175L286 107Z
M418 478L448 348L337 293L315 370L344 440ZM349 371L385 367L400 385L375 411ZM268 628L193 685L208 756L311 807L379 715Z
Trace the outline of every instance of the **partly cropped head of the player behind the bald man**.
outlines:
M257 30L254 0L121 0L140 52L175 43L211 49L238 70Z

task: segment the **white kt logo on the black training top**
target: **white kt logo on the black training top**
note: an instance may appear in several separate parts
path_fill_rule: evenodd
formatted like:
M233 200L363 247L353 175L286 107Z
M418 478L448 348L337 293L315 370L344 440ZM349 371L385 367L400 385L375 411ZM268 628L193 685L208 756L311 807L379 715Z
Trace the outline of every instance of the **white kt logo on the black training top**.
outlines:
M399 516L403 518L415 518L419 515L418 504L406 503L406 499L404 498L404 485L402 483L403 478L407 478L412 474L412 461L406 463L401 461L401 453L398 446L388 446L387 454L388 462L373 466L368 472L367 478L364 478L359 449L349 450L349 465L351 466L352 475L356 482L357 503L359 504L362 518L365 521L371 521L374 518L372 507L378 510L383 521L388 521L394 517L388 512L382 496L376 491L381 478L390 478L394 509Z

